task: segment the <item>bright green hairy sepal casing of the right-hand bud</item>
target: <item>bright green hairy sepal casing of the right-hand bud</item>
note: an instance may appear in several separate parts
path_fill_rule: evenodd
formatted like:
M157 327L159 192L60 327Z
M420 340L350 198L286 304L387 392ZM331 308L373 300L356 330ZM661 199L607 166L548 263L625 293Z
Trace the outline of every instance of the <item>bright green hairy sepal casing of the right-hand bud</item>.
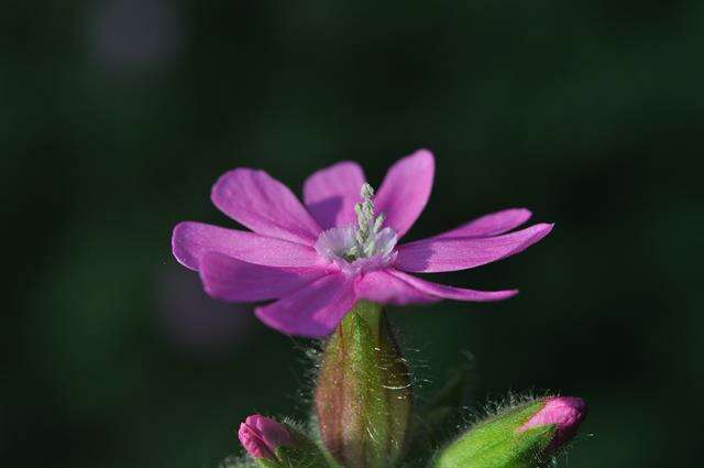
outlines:
M518 432L544 406L538 400L503 412L479 423L441 450L435 468L537 468L543 465L541 454L554 435L547 425Z

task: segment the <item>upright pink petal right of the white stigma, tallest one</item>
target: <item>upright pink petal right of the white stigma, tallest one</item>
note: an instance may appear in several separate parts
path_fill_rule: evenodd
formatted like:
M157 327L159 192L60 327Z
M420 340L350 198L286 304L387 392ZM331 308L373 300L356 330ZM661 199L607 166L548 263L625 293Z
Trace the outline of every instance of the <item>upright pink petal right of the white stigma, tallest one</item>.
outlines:
M386 215L398 237L404 236L420 216L432 189L436 163L428 150L416 151L394 164L380 187L374 204Z

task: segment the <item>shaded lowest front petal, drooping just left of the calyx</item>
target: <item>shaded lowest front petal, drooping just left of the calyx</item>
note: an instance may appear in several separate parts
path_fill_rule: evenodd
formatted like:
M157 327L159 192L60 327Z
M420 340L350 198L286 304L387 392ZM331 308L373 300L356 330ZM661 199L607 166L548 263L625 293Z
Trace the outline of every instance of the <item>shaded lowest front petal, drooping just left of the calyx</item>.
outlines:
M352 281L336 273L257 307L255 313L260 320L285 334L321 338L334 330L355 302Z

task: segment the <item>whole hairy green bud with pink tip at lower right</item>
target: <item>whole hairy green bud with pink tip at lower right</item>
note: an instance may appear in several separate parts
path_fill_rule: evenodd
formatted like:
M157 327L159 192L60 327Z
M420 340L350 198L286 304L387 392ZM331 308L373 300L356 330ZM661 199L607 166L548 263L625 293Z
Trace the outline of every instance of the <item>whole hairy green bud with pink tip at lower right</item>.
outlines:
M437 457L436 468L535 468L569 442L586 415L582 399L550 396L479 423Z

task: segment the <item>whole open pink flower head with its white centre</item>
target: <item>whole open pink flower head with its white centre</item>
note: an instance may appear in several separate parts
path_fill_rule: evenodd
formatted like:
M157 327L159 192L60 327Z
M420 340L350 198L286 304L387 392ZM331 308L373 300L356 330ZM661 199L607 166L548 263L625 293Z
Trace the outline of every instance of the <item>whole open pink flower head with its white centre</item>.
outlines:
M308 177L304 206L265 172L235 168L218 179L211 199L252 232L182 222L174 229L174 255L200 272L211 296L275 300L258 306L256 316L277 330L308 337L330 334L360 300L400 305L512 297L517 291L466 290L408 274L495 262L552 229L538 224L509 232L530 217L516 208L398 246L428 203L433 174L432 154L419 150L391 167L374 196L362 168L342 162Z

